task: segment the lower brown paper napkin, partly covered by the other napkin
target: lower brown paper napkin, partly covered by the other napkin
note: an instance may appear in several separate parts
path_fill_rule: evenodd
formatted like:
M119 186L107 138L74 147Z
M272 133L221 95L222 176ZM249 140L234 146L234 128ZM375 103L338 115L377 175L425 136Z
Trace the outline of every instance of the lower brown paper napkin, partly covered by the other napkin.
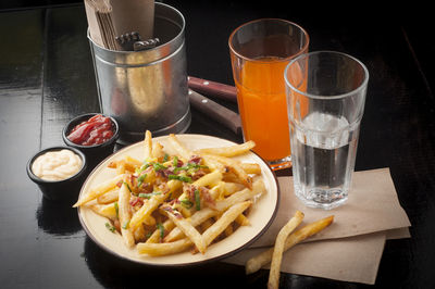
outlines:
M385 233L300 243L284 253L281 271L373 285L385 244ZM264 249L247 249L224 262L245 265ZM265 266L264 268L270 268Z

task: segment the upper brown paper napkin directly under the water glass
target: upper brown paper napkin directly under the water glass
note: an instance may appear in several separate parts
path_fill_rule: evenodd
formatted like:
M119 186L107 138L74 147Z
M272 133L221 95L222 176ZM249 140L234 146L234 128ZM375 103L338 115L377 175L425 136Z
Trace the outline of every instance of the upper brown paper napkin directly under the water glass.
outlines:
M279 229L297 211L304 213L303 223L334 215L334 224L310 238L325 240L364 235L375 231L407 228L411 224L400 206L388 168L356 172L349 199L344 205L331 211L311 209L295 196L291 177L279 177L281 199L277 215L252 247L272 246Z

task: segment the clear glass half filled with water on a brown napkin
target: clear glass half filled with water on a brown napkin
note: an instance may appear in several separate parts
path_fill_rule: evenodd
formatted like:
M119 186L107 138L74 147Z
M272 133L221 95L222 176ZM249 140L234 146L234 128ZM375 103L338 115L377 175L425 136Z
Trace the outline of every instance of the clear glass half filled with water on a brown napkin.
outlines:
M369 72L348 54L299 55L284 72L296 196L330 210L348 199Z

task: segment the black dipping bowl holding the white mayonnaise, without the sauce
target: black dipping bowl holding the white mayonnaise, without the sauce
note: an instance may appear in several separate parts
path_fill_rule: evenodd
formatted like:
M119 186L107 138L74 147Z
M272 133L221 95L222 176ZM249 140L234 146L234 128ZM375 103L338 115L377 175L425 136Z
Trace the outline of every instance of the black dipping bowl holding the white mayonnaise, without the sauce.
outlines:
M36 176L34 174L34 172L32 171L32 165L34 164L35 160L39 155L42 155L49 151L60 151L63 149L73 151L75 154L77 154L82 159L82 167L75 175L73 175L69 178L62 179L62 180L46 180L46 179L39 178L38 176ZM36 153L28 161L26 169L27 169L28 177L35 184L38 185L39 189L42 192L42 196L46 199L51 200L51 201L74 203L77 200L78 193L83 186L83 183L85 181L85 178L87 177L86 167L87 167L86 156L79 150L74 149L74 148L69 148L69 147L51 147L51 148L47 148L47 149L41 150L40 152Z

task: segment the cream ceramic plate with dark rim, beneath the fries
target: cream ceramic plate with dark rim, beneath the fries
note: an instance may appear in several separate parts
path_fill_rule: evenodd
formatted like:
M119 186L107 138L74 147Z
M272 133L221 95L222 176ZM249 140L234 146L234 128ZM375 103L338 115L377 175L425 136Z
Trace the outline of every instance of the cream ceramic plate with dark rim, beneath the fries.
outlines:
M234 142L225 139L203 135L177 135L177 138L190 150L235 144ZM175 154L167 141L166 136L153 138L153 140L162 143L167 153ZM144 142L137 142L105 159L88 176L84 186L82 187L79 198L86 194L98 184L101 184L102 181L115 176L115 169L108 168L108 164L111 161L121 160L126 155L141 160L144 153L142 148ZM104 217L97 215L86 206L78 209L78 217L88 236L98 246L117 256L134 262L150 265L176 266L198 264L229 256L252 243L266 230L275 217L279 200L279 189L276 176L266 165L266 163L252 152L237 158L244 162L260 164L262 172L261 174L268 191L256 201L252 210L249 213L248 217L251 225L241 226L229 237L211 244L204 254L191 254L188 251L167 256L149 256L139 254L136 248L126 248L122 237L119 234L113 234L107 229L104 224L108 221Z

